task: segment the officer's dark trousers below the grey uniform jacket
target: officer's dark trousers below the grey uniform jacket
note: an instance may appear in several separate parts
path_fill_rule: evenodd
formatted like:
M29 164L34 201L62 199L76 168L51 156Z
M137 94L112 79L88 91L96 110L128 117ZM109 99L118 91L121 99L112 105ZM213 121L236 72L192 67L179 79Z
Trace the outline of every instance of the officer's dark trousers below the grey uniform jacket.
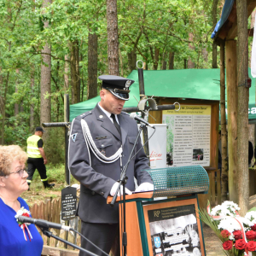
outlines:
M109 254L111 250L114 256L120 255L119 224L95 224L82 221L81 232L83 236L96 244L97 247L100 247L105 253ZM96 253L96 255L104 255L99 249L92 246L90 242L84 240L84 238L81 240L81 247L91 253ZM79 256L88 256L88 253L80 251Z

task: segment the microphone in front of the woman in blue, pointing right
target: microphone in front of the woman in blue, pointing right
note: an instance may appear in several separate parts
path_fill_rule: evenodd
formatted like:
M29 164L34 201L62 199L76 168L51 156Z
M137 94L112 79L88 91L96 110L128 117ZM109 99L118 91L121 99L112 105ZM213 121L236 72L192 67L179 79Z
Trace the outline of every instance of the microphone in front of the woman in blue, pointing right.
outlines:
M50 221L40 219L40 218L30 218L30 217L25 217L25 216L18 216L17 220L22 222L22 223L35 224L40 228L47 228L47 229L52 228L52 229L66 230L66 231L69 231L71 229L71 227L61 225L61 224L57 224L57 223L54 223L54 222L50 222Z

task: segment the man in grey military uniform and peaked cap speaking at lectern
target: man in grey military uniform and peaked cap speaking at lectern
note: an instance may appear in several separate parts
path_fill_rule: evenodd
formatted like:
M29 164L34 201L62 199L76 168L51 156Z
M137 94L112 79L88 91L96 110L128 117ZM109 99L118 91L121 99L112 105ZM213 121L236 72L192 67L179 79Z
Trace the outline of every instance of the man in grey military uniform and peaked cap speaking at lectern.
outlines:
M119 255L119 209L107 205L108 195L114 195L123 166L126 165L137 137L137 122L122 112L129 100L129 87L133 80L118 76L100 76L101 102L96 107L73 119L69 140L69 168L81 183L79 218L82 233L103 251ZM128 177L126 194L131 195L134 177L137 191L153 190L154 185L148 172L148 159L140 140L126 170ZM122 194L121 188L119 193ZM82 240L82 247L103 253ZM112 249L111 249L112 247ZM80 252L79 254L86 255Z

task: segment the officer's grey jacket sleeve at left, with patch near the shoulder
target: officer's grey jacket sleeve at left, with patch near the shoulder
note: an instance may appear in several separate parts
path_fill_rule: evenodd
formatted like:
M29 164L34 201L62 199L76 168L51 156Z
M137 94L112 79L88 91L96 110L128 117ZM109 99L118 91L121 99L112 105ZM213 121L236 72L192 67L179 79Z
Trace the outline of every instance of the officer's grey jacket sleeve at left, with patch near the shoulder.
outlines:
M96 172L90 166L90 154L84 140L79 119L73 119L68 152L69 170L82 185L96 193L108 197L115 181Z

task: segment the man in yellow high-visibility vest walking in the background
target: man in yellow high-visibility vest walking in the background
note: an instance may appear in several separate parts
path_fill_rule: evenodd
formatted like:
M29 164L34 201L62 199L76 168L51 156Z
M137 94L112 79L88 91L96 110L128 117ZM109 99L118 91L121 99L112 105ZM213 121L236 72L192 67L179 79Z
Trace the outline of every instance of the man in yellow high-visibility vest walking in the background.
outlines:
M44 153L44 142L42 140L42 136L44 134L44 130L42 127L36 127L34 135L28 137L26 140L26 153L28 155L27 159L27 173L28 177L26 178L26 182L28 186L32 183L32 177L36 169L41 177L41 181L44 183L44 188L51 189L55 183L48 183L48 178L46 175L46 167L47 159ZM29 190L29 189L28 189Z

